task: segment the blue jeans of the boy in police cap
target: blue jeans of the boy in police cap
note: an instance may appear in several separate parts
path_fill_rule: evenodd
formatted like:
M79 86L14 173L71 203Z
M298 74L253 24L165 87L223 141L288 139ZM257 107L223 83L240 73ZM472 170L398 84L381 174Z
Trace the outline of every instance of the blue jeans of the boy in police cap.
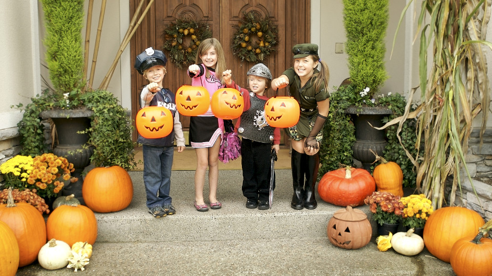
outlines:
M144 183L147 193L147 207L171 204L171 169L174 147L143 145Z

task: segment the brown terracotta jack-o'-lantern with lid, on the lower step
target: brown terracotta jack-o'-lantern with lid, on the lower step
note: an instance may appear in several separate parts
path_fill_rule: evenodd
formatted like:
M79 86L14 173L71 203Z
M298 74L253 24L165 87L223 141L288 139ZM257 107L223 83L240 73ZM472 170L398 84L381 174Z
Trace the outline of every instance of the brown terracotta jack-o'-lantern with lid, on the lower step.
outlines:
M371 240L372 233L371 223L364 212L351 206L335 212L326 227L328 240L345 249L364 247Z

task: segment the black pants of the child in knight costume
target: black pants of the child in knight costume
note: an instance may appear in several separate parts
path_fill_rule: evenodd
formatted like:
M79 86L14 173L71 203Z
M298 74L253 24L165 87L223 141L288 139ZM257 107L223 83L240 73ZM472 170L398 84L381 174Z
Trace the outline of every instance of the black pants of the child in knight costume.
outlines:
M242 194L246 198L268 200L272 166L271 152L272 145L270 143L242 138ZM275 188L275 176L273 188Z

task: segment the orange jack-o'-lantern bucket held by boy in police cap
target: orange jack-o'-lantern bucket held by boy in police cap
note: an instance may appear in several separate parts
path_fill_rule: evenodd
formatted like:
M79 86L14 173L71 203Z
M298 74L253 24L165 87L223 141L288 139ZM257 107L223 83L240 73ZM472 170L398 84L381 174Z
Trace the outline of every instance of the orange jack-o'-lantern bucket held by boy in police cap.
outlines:
M147 106L138 111L135 125L142 137L165 137L173 130L173 114L166 107Z

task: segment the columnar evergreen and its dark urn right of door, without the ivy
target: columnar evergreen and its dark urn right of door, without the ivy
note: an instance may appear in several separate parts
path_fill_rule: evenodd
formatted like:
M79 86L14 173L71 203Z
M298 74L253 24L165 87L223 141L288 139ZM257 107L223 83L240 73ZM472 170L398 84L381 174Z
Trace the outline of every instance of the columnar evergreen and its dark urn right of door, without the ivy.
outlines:
M382 155L386 145L384 131L372 126L382 126L381 119L392 113L386 107L374 105L374 95L387 79L384 37L388 18L388 0L343 0L345 50L350 74L347 85L357 96L356 102L345 112L351 114L355 125L354 157L366 170L370 170L374 161L370 149Z

